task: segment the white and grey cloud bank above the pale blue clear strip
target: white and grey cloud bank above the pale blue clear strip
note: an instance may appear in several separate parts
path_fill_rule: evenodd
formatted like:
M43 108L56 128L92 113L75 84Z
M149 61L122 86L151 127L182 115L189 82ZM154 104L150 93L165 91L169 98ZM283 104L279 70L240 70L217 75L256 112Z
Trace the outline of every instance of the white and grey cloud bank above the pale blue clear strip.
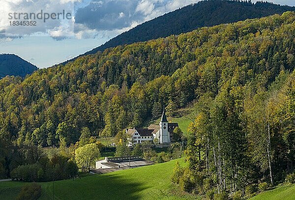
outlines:
M60 40L107 37L198 0L0 0L0 38L44 34ZM37 26L10 26L8 13L58 13L71 20L36 20ZM1 35L2 34L2 35Z

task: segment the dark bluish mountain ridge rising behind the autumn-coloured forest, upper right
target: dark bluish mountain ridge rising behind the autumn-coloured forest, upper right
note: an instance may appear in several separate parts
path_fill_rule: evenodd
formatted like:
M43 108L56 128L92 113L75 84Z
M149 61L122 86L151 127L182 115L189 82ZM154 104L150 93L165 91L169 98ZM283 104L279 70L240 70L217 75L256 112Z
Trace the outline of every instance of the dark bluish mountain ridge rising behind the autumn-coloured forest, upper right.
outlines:
M148 41L169 35L190 32L200 27L211 27L245 19L261 18L285 11L295 11L295 7L257 1L240 2L237 0L204 0L187 5L163 16L145 22L129 31L123 32L105 44L83 55L95 54L110 47ZM78 57L80 57L78 56ZM73 61L77 57L67 60Z

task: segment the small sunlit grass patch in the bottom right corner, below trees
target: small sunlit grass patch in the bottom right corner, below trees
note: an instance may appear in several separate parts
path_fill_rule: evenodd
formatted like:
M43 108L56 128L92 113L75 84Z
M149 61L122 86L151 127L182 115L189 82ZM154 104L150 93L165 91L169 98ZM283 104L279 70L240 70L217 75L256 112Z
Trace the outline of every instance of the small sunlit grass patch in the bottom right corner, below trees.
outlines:
M295 184L279 186L273 190L256 195L250 200L295 200Z

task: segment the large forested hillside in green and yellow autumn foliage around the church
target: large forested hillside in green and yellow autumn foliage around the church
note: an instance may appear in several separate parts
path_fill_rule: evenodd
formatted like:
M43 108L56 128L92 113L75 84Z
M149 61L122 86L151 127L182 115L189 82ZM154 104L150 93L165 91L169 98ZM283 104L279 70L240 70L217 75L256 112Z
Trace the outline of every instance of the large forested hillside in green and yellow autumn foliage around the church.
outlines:
M86 128L114 136L196 102L179 187L214 195L282 181L295 160L294 21L205 27L1 79L0 172L19 165L9 149L24 143L69 145Z

